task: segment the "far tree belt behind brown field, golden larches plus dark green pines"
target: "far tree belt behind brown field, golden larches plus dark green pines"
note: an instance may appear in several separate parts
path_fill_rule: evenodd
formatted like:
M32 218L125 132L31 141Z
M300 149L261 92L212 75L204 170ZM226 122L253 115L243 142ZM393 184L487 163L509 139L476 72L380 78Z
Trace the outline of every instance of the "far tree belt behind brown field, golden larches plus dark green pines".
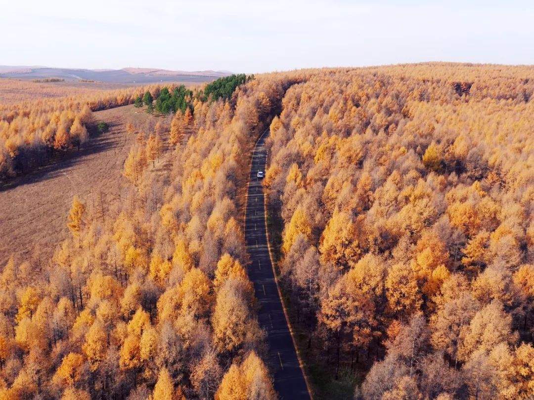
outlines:
M192 115L193 97L202 102L227 99L251 77L234 75L228 78L223 78L222 83L215 86L207 85L204 90L195 89L195 92L184 85L150 85L0 104L0 183L42 165L58 151L79 148L88 138L87 131L93 122L91 111L132 103L140 107L144 103L149 113L155 109L160 114L176 113L178 110L185 114L189 109Z

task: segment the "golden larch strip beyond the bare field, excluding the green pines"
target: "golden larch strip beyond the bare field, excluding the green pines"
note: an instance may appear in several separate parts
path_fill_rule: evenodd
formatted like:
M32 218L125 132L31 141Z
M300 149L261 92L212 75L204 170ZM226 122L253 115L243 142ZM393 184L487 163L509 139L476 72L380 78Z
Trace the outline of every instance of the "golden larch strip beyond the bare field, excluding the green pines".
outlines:
M54 153L79 148L94 122L92 111L125 106L139 93L160 90L152 85L0 105L0 182L32 170Z

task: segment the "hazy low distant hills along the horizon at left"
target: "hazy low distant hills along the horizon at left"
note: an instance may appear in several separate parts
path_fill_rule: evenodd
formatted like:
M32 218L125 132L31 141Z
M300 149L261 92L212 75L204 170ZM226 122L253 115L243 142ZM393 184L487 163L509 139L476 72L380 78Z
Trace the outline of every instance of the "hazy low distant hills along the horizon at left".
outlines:
M207 82L231 75L227 71L171 71L158 68L71 69L29 66L0 66L1 78L44 79L65 81L87 79L107 83Z

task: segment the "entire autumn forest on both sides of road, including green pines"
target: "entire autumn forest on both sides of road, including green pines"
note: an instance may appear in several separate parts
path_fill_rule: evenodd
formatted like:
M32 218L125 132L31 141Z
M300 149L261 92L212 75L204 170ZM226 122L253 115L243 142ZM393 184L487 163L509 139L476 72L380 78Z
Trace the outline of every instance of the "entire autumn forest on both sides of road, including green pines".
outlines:
M130 126L119 204L74 197L52 257L3 266L0 399L277 398L243 228L266 128L270 237L313 398L534 396L534 68L297 70L6 104L4 174L147 92L174 114Z

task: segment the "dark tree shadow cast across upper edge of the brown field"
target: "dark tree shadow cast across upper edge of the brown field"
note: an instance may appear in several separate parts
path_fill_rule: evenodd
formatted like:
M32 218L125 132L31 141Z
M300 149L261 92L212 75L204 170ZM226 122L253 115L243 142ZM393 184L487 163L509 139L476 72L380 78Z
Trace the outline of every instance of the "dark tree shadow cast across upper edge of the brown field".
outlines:
M96 126L92 126L89 130L89 140L80 146L80 150L75 148L56 154L47 159L35 170L20 174L0 184L0 193L12 190L18 186L31 185L36 182L56 178L58 175L65 173L62 171L83 162L87 157L120 146L123 143L122 137L124 131L113 130L118 125L120 124L108 123L108 130L104 133L98 133Z

